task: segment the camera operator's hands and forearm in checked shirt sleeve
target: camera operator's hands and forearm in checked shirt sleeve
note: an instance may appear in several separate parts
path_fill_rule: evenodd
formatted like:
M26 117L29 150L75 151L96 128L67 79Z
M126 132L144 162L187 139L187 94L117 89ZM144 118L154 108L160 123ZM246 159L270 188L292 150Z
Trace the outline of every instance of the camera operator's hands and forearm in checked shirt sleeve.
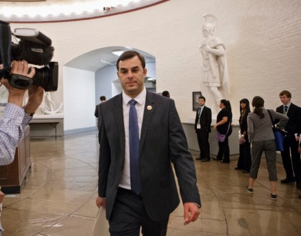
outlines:
M34 76L34 69L29 72L27 62L14 61L10 73L32 78ZM23 137L23 119L25 119L25 113L21 106L26 90L13 88L5 78L1 78L0 82L8 88L9 93L8 104L0 120L0 165L8 165L14 161L14 152Z

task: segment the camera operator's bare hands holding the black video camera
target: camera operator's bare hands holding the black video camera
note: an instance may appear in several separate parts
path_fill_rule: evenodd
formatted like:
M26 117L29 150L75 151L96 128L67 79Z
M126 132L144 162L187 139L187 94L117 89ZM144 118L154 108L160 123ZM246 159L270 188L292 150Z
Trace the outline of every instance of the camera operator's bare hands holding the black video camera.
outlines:
M36 71L34 67L28 67L27 61L16 61L12 62L12 68L10 69L10 73L14 73L17 75L24 75L29 78L33 78ZM3 84L6 88L8 88L8 102L11 104L15 104L16 106L22 107L23 97L26 90L22 90L19 88L14 88L10 86L10 83L5 78L1 78L1 84Z

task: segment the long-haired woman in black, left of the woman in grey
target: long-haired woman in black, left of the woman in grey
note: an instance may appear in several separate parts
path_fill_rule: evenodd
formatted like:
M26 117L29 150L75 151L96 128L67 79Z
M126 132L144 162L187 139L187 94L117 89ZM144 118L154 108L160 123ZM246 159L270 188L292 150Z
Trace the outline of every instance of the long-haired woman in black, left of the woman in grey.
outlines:
M241 110L241 116L239 117L239 161L237 162L237 167L234 169L241 169L243 173L250 173L252 158L247 123L248 114L251 112L250 102L244 98L239 103Z

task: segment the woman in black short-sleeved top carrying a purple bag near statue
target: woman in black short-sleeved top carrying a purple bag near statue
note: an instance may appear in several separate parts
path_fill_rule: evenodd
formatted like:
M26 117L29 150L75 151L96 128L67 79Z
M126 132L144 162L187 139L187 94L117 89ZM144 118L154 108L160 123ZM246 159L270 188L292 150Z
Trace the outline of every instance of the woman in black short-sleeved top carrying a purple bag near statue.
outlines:
M217 114L217 123L213 126L213 130L217 130L217 140L219 141L219 152L216 158L213 158L216 161L221 163L230 163L230 149L228 137L232 134L232 112L231 104L226 99L221 99L219 103L219 108L221 110ZM224 136L224 139L219 139L218 136ZM223 141L224 140L224 141Z

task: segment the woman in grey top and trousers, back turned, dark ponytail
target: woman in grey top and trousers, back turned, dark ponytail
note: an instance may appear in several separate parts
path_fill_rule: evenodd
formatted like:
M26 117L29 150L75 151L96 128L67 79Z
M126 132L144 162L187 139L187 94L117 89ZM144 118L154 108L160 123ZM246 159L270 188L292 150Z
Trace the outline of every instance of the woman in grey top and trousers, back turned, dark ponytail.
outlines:
M254 111L249 113L248 135L250 143L252 143L252 166L250 169L249 185L245 188L249 193L253 193L253 185L258 175L259 165L261 163L261 155L265 152L267 160L267 170L269 172L269 182L271 185L271 199L277 200L276 194L276 142L272 129L272 120L269 117L268 111L263 107L265 101L262 97L256 96L252 100ZM285 128L289 117L277 113L274 110L269 110L272 119L279 119L278 128Z

